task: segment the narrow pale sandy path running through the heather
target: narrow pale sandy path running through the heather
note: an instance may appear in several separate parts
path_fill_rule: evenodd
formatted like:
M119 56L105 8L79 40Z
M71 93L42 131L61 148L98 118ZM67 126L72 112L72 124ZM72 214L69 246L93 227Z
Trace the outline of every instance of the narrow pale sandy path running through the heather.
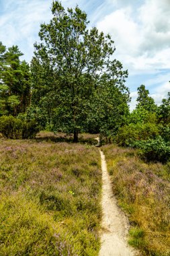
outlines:
M112 183L108 174L105 156L101 150L102 192L102 234L99 256L134 256L127 244L128 220L116 205L112 192Z

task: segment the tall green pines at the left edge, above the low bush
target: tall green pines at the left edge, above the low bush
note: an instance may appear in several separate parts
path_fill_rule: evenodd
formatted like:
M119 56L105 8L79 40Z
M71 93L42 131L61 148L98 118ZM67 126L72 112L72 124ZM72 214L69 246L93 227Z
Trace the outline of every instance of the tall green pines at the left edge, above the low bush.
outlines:
M26 111L30 104L30 67L20 61L17 46L6 49L0 42L0 115Z

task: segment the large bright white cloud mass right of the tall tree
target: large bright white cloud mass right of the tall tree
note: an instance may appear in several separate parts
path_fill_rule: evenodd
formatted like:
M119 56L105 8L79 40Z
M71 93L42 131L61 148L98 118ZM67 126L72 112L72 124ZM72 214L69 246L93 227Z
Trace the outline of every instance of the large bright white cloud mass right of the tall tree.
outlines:
M99 20L97 28L112 35L115 57L128 69L131 77L142 77L155 102L161 104L170 92L170 1L108 0L110 2L116 9ZM152 79L147 79L148 75ZM136 78L134 81L137 82ZM136 87L142 81L138 81ZM134 90L134 83L132 88ZM132 110L136 106L137 92L130 96Z

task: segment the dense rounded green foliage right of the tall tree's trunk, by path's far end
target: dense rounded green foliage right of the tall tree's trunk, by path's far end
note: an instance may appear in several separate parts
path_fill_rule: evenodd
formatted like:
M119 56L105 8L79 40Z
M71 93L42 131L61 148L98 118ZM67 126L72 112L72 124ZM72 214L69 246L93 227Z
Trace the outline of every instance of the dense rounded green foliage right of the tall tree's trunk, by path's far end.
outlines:
M122 68L119 63L120 69ZM124 86L124 75L122 81L110 80L103 75L91 100L91 110L87 118L87 129L91 132L99 132L108 141L116 134L118 128L126 123L126 116L129 114L128 104L129 92Z

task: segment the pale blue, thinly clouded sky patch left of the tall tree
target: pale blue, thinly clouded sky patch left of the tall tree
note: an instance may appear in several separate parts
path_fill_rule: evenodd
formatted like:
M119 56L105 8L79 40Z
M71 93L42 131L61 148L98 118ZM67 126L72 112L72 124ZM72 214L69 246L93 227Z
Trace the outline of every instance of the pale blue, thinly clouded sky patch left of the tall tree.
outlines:
M7 47L19 45L23 58L32 58L34 42L38 40L40 23L50 20L50 1L6 1L1 14L1 41Z

